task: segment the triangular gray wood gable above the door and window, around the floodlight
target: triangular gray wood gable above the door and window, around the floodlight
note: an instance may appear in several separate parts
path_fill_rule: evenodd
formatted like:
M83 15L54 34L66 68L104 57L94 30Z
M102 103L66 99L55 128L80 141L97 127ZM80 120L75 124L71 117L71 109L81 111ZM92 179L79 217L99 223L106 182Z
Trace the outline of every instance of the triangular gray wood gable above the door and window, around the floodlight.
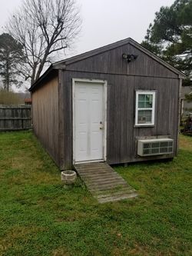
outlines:
M127 64L127 61L122 59L123 53L138 55L137 60ZM94 55L79 62L74 62L68 65L68 69L103 74L141 75L166 78L178 77L174 71L170 71L164 65L161 65L130 44L114 48L102 54Z

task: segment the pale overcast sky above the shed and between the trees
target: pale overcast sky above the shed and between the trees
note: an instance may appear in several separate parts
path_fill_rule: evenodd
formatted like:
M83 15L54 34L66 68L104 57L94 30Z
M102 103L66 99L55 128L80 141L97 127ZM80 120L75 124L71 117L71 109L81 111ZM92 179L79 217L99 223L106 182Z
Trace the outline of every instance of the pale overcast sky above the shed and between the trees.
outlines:
M0 0L0 25L5 25L22 0ZM133 38L141 42L154 13L174 0L77 0L81 8L82 31L74 51L69 55L87 52L100 46ZM1 30L2 32L2 30Z

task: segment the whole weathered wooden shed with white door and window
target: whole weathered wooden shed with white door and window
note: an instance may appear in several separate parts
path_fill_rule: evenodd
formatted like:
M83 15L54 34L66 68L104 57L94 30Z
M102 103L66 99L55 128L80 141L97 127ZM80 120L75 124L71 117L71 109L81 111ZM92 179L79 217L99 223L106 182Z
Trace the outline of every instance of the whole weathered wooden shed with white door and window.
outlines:
M131 38L57 62L29 89L35 135L61 170L173 158L182 78Z

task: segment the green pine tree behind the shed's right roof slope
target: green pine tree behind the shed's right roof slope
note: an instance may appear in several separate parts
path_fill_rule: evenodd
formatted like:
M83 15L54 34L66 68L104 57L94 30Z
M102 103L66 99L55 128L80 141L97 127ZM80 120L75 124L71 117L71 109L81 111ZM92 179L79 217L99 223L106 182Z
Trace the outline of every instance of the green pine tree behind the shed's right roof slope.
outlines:
M192 85L192 0L176 0L156 12L142 45L187 75Z

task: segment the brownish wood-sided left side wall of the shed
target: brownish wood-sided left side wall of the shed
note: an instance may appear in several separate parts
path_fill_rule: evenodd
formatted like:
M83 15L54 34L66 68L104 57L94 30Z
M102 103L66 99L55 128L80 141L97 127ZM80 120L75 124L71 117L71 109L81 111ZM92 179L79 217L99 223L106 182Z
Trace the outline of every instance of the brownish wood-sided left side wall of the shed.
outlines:
M58 145L58 77L50 78L45 85L32 93L32 121L35 135L57 165Z

